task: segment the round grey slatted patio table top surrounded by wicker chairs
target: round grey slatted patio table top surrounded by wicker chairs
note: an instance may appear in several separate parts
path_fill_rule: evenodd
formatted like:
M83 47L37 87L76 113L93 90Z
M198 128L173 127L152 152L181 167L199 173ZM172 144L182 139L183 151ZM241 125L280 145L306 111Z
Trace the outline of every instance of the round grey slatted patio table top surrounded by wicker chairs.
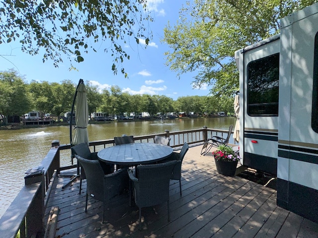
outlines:
M168 158L173 149L155 143L115 145L100 150L97 157L104 162L118 165L149 164Z

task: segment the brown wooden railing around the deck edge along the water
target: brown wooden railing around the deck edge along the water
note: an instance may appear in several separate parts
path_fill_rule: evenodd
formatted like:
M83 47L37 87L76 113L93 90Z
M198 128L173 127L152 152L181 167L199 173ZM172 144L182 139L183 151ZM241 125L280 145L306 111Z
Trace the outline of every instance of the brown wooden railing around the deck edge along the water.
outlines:
M207 138L211 138L214 135L224 138L227 133L228 130L209 129L207 127L176 132L166 130L164 133L159 134L135 136L134 142L153 142L155 135L161 135L171 138L169 144L171 147L179 147L184 142L188 144L204 142ZM230 144L233 145L235 143ZM89 142L92 151L98 151L113 145L113 139ZM18 233L20 238L45 236L44 212L50 195L50 183L61 171L77 167L77 165L73 165L73 162L69 166L60 166L60 151L70 149L70 144L60 145L58 140L52 141L52 147L42 161L44 174L39 179L39 182L24 185L3 214L0 219L0 237L16 238Z

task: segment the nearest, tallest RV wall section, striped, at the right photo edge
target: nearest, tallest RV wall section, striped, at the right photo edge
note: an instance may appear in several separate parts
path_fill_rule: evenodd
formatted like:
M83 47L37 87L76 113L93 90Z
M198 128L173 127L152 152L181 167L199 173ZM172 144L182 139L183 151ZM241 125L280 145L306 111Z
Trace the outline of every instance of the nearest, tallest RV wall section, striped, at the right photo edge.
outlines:
M280 48L277 204L318 222L318 3L281 20Z

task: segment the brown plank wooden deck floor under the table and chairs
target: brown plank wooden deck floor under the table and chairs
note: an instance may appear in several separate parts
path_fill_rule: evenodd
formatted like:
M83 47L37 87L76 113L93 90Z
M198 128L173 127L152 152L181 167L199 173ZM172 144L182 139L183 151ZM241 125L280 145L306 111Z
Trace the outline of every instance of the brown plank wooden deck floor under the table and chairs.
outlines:
M69 178L60 177L51 188L46 214L59 207L57 238L317 238L318 224L276 205L276 190L256 182L219 175L209 153L190 146L182 164L182 196L178 181L170 182L170 222L166 202L143 208L139 231L138 207L128 194L112 201L108 221L101 223L102 203L88 200L85 180L62 190ZM272 180L270 183L274 183ZM270 184L269 183L269 184Z

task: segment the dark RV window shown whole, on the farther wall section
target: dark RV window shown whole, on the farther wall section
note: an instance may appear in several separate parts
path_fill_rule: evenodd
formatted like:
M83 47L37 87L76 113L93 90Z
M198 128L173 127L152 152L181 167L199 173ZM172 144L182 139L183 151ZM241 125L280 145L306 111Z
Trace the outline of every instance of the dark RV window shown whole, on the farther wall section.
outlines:
M247 64L247 114L278 116L279 53Z

